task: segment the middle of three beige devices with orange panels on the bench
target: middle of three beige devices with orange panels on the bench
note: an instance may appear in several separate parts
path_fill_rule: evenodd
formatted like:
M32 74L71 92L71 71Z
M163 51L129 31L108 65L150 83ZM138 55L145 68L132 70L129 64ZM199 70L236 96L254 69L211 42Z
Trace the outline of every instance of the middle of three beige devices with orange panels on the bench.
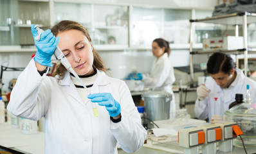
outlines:
M205 144L202 145L202 153L216 153L216 143L222 139L222 130L219 124L206 124L201 126L205 132Z

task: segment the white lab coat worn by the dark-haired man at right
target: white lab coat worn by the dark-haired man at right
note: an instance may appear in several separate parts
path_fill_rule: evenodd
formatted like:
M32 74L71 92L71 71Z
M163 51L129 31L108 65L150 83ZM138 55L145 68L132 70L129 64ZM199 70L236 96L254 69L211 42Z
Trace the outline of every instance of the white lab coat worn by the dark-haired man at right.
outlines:
M206 78L205 87L211 91L203 101L199 101L198 98L196 100L194 111L198 119L208 117L211 121L213 115L220 115L223 110L221 100L224 101L224 110L228 110L230 103L235 101L235 94L243 94L245 98L246 85L250 85L251 103L256 103L256 82L244 76L241 69L235 71L237 76L227 89L221 89L212 77ZM214 98L217 98L217 101Z

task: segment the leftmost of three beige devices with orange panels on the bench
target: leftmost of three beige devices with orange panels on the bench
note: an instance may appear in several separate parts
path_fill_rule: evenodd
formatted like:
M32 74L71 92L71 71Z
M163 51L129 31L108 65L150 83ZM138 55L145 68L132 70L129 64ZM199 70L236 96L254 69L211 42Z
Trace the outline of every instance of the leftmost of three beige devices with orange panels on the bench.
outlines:
M200 127L179 130L178 142L185 154L199 153L199 146L205 143L205 132Z

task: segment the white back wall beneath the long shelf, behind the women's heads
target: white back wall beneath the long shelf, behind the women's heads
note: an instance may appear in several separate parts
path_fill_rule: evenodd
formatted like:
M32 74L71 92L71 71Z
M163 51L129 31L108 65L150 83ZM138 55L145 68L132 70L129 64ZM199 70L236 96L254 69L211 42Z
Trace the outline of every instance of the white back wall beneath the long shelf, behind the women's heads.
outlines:
M131 73L135 66L140 73L149 73L151 71L154 56L151 50L136 51L99 51L107 69L114 78L123 79ZM8 67L26 67L30 62L32 52L28 53L0 53L0 64ZM189 65L188 50L172 50L170 60L174 67ZM3 63L5 62L5 63ZM6 63L8 62L8 63ZM8 65L7 65L8 64ZM17 78L20 71L3 72L3 90L8 92L8 83L13 78Z

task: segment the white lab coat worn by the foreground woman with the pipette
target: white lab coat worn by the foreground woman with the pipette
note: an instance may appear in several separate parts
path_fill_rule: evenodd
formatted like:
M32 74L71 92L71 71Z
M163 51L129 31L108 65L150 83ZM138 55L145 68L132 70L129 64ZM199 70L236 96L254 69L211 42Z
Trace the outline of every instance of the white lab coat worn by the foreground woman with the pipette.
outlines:
M68 71L63 80L40 76L34 60L19 76L7 109L19 117L45 118L44 153L118 153L117 142L127 152L137 151L147 132L127 85L102 71L97 73L92 92L110 92L120 103L119 123L113 123L98 104L99 116L94 116L91 101L82 101Z

